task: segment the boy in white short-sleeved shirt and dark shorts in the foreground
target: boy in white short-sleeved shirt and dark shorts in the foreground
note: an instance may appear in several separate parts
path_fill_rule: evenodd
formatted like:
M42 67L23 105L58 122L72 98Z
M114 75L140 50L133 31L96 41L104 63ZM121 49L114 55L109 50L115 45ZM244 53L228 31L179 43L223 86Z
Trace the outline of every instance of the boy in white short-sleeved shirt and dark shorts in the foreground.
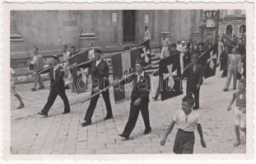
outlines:
M193 103L194 99L192 97L185 96L182 99L182 110L175 112L175 116L166 130L165 136L160 142L161 145L165 145L168 134L170 134L175 124L177 124L179 130L175 137L174 153L193 153L195 140L193 131L196 127L200 135L202 148L206 148L202 136L202 126L200 124L199 115L192 110Z

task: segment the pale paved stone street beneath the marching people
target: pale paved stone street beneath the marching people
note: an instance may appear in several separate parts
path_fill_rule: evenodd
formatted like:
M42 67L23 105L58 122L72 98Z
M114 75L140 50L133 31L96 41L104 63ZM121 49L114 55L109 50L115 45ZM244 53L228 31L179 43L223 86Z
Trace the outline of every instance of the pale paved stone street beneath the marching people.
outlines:
M219 68L217 68L219 70ZM194 153L245 153L245 137L241 133L242 144L234 147L234 112L227 112L226 108L234 90L222 92L226 78L222 79L220 73L204 80L200 91L200 109L202 116L202 130L207 148L202 148L198 132L195 131ZM154 78L156 89L157 78ZM45 86L49 81L44 82ZM185 80L184 80L185 93ZM130 139L119 137L124 125L128 121L129 102L114 104L113 90L110 90L110 101L113 108L114 119L104 121L105 103L100 96L92 117L92 125L81 127L81 122L90 101L77 103L86 98L90 92L72 93L67 90L67 97L72 104L72 112L62 115L63 102L60 98L49 111L48 118L42 118L37 112L44 107L49 89L31 92L32 84L19 84L16 86L24 99L25 108L18 110L18 101L12 97L11 111L11 145L12 154L109 154L109 153L173 153L176 129L173 130L165 146L160 140L175 111L181 108L181 98L170 98L161 102L149 103L151 134L143 135L144 123L140 114L137 125ZM154 96L155 91L151 91Z

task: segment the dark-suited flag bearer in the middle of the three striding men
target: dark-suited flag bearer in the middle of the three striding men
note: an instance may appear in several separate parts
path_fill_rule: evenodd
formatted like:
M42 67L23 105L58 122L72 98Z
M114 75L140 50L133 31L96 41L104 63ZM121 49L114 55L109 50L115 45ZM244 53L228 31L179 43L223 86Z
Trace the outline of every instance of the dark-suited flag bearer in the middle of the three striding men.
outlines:
M97 93L98 91L105 89L109 86L109 66L105 60L101 59L101 50L95 49L95 62L91 64L91 95ZM105 106L107 108L107 115L105 116L104 120L109 120L113 118L112 114L112 107L109 100L109 89L106 89L104 92L101 93L104 101ZM91 117L97 105L98 99L100 94L91 98L90 106L86 111L85 122L81 123L81 126L91 125Z

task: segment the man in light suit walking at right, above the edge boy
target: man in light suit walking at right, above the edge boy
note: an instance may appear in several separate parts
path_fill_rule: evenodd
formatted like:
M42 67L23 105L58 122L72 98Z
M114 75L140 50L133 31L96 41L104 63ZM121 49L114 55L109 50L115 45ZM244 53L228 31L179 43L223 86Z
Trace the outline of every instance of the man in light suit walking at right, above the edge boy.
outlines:
M223 89L224 92L228 91L230 81L233 76L233 89L236 89L237 74L241 72L241 56L236 53L237 49L232 48L232 53L229 55L227 60L227 79L226 85Z

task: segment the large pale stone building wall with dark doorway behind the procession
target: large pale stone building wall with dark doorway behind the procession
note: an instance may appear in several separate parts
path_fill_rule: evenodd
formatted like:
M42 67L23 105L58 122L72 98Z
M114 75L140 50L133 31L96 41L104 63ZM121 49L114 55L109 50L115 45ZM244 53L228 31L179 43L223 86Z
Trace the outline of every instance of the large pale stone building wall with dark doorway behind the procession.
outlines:
M29 57L34 46L43 55L58 53L65 44L101 48L141 43L144 27L151 43L161 34L171 41L189 40L200 34L199 10L142 11L11 11L11 59Z

